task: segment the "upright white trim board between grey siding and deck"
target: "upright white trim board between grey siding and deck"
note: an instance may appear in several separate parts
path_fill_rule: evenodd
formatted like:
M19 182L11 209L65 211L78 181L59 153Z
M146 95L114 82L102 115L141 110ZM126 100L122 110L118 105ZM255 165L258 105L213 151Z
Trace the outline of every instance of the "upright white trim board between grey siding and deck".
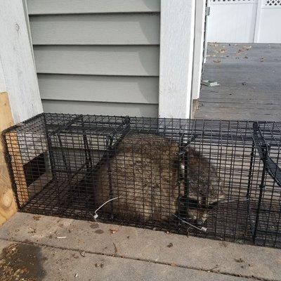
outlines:
M159 117L190 117L195 0L161 1Z

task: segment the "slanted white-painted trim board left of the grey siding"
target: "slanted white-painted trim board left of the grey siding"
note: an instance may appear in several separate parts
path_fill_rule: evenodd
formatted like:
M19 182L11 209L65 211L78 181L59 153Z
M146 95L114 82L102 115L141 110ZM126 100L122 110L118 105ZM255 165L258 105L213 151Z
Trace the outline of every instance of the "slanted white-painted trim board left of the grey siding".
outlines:
M14 122L43 112L22 0L1 0L0 58Z

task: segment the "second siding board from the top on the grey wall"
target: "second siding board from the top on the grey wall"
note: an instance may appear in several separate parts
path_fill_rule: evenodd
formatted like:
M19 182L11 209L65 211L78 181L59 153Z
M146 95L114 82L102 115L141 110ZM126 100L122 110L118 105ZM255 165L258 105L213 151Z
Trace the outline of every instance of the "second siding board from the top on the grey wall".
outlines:
M34 45L156 45L159 15L43 15L30 17Z

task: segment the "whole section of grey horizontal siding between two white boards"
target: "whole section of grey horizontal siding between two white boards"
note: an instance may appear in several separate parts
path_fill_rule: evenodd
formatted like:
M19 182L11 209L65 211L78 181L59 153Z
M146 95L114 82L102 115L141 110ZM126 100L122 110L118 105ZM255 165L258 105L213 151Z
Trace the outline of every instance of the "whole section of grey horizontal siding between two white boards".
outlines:
M160 0L27 0L45 112L157 117Z

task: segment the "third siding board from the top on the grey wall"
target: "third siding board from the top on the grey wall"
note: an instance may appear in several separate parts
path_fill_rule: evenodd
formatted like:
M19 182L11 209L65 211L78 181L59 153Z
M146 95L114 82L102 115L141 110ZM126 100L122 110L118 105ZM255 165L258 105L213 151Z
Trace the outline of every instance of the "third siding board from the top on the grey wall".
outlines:
M158 76L159 46L34 46L39 73Z

